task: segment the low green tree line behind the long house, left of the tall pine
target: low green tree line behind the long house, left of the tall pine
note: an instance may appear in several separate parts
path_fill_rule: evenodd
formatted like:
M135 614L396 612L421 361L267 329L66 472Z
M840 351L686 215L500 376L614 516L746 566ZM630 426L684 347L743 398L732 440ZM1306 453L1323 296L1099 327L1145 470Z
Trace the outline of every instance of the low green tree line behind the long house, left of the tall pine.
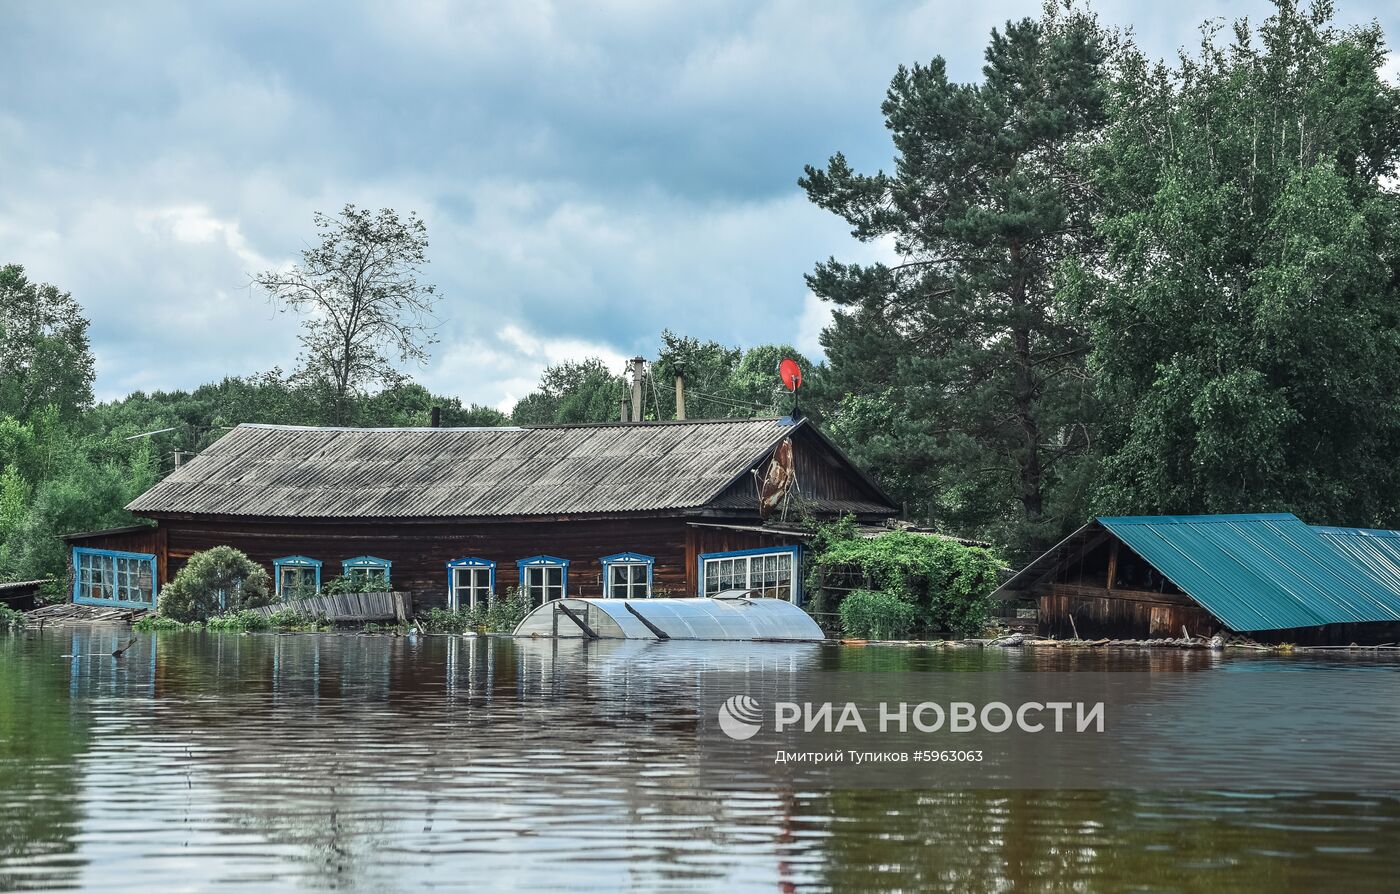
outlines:
M448 427L606 423L630 396L623 371L570 361L549 367L505 414L433 395L398 372L347 383L323 375L312 354L290 375L272 369L94 403L81 305L11 264L0 269L0 579L55 578L50 597L66 576L62 534L137 523L127 502L239 423L414 427L427 425L434 407ZM323 333L316 339L325 344ZM785 411L776 367L787 355L801 357L787 346L745 351L664 333L645 368L645 417L673 418L682 368L696 383L693 417Z

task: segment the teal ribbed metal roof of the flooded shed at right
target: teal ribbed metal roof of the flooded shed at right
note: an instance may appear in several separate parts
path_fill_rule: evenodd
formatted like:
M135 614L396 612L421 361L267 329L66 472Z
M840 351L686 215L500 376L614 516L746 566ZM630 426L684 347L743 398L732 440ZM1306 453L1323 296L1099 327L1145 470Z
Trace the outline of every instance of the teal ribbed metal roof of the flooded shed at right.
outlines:
M1098 523L1231 630L1400 621L1396 532L1337 533L1344 529L1310 527L1287 512Z

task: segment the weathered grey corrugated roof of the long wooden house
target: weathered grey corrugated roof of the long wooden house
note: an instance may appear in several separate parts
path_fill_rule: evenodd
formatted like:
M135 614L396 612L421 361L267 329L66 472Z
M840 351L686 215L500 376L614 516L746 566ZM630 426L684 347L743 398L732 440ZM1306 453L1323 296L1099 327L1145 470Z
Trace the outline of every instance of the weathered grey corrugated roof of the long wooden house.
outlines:
M477 518L704 505L790 418L528 428L239 425L127 508L274 518Z

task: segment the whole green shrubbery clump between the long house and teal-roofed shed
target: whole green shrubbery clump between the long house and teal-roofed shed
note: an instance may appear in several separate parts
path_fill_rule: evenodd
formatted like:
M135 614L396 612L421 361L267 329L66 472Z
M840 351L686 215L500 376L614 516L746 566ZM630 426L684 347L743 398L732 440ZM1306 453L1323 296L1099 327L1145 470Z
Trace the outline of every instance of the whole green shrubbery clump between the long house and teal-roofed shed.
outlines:
M819 532L809 568L813 610L837 611L848 637L893 639L980 632L1001 562L991 550L928 534L861 537L843 519ZM854 586L830 586L833 579Z

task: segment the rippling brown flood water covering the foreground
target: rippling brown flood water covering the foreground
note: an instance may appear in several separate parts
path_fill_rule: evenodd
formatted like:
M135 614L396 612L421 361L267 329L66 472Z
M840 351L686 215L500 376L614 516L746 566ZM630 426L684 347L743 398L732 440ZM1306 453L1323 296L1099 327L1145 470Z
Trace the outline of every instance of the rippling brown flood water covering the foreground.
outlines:
M0 634L0 890L1394 890L1400 797L717 790L696 679L1207 652ZM1397 666L1400 673L1400 666ZM1190 768L1183 768L1189 774ZM707 775L708 778L708 775Z

